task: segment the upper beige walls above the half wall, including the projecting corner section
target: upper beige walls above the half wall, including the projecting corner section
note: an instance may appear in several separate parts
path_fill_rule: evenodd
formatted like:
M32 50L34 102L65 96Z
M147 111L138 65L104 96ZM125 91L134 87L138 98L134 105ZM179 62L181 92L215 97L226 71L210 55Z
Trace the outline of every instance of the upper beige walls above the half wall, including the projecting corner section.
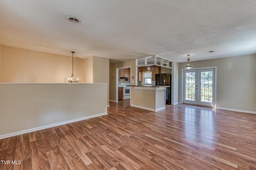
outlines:
M3 45L0 49L0 83L66 83L71 77L72 53L69 57ZM74 77L80 83L109 83L109 59L74 57Z

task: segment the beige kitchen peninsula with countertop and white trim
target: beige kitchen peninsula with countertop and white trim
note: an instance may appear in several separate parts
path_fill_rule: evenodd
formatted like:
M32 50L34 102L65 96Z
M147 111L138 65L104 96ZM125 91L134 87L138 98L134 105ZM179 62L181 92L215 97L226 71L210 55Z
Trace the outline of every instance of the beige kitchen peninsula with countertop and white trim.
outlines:
M150 111L165 109L167 87L170 86L131 86L130 105Z

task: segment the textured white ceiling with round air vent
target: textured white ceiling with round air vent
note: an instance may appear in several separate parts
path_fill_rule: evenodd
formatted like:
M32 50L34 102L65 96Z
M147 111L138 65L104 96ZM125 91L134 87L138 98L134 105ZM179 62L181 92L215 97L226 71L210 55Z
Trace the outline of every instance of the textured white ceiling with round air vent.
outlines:
M0 44L112 61L249 55L255 7L256 0L0 0Z

